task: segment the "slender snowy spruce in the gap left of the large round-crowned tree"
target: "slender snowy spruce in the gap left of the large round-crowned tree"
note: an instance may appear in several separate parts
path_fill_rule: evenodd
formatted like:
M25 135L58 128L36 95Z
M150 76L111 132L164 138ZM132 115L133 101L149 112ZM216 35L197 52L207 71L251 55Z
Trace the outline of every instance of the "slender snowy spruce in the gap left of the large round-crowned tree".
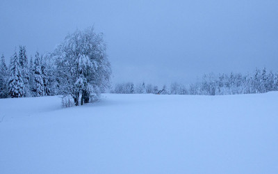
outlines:
M42 79L42 65L40 54L36 52L34 61L34 82L35 82L35 96L40 97L44 95L44 83Z

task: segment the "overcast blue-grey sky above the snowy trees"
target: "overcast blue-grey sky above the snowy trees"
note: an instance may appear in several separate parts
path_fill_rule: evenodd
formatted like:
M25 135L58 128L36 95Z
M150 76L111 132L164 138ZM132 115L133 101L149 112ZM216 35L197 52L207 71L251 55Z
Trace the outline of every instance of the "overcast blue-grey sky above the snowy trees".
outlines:
M278 72L278 1L1 0L0 53L51 52L88 26L108 45L113 82L190 83L208 72Z

